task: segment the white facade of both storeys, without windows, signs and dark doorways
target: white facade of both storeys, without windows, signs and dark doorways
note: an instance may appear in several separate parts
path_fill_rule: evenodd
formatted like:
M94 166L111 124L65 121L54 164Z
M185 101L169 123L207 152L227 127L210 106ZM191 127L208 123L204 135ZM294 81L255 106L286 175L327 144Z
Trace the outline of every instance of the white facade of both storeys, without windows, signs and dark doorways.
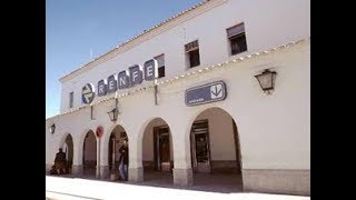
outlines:
M69 133L73 140L73 167L82 166L85 137L98 126L103 127L103 136L97 138L99 148L90 158L96 156L97 164L107 167L110 133L121 126L129 139L130 179L141 180L142 161L154 157L152 147L145 144L152 140L152 130L147 127L160 118L158 123L167 123L170 129L175 182L184 180L187 183L189 181L185 179L189 179L189 172L182 176L181 170L191 170L191 124L206 111L198 119L209 118L212 160L236 159L234 147L226 144L234 136L233 122L228 119L235 120L246 189L309 193L309 21L310 3L307 0L210 0L61 78L61 114L46 120L47 167L53 163L58 148L63 146ZM226 29L241 22L247 51L230 56ZM197 39L200 66L187 69L184 47ZM274 50L290 41L299 42ZM264 53L264 50L268 52ZM257 51L260 53L254 54ZM81 103L81 88L86 83L92 83L97 90L99 80L134 64L144 64L161 53L165 53L166 77L158 80L157 106L150 87L152 81L144 81L117 93L96 97L93 118L90 119L90 106ZM211 66L215 68L208 68ZM264 69L277 72L275 91L270 96L261 91L254 77ZM227 84L228 94L224 101L196 107L185 104L187 89L218 80ZM147 89L137 91L141 88ZM75 102L70 110L69 93L72 91ZM122 97L127 92L130 94ZM108 98L115 96L120 114L112 122L107 112L115 107L115 100ZM102 101L105 99L108 100ZM221 110L208 110L211 108ZM48 130L52 123L56 123L53 134ZM100 168L97 170L101 174ZM294 183L286 183L291 180Z

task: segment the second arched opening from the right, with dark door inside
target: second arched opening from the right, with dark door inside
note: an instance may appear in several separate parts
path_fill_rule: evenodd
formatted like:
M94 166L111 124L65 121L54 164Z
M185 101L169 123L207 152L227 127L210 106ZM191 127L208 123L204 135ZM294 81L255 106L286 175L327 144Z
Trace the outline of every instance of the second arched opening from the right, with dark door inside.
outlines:
M174 147L168 123L151 119L142 136L144 181L172 182Z

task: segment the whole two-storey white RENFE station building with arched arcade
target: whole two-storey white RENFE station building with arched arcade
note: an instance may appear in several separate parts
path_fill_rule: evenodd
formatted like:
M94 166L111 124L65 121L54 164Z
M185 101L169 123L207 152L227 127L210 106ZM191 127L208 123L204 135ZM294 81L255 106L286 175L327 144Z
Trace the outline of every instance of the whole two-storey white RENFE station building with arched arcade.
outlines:
M46 170L59 148L77 177L129 181L227 173L245 191L310 193L310 6L207 0L59 79Z

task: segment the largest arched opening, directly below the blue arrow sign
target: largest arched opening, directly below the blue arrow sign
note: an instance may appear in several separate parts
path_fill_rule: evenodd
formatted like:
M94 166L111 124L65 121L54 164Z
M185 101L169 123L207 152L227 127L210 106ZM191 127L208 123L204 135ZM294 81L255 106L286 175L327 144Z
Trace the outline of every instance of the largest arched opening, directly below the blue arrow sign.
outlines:
M233 117L221 108L208 108L195 118L189 137L194 184L209 182L241 191L240 144Z

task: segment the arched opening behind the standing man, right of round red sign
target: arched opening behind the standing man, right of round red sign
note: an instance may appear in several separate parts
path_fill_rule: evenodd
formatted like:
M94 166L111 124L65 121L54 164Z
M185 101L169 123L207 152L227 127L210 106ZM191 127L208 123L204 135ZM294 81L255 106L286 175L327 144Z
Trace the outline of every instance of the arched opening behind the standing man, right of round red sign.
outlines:
M119 173L119 159L120 152L119 149L122 146L123 140L128 140L127 132L122 126L116 126L108 141L108 166L110 174Z

